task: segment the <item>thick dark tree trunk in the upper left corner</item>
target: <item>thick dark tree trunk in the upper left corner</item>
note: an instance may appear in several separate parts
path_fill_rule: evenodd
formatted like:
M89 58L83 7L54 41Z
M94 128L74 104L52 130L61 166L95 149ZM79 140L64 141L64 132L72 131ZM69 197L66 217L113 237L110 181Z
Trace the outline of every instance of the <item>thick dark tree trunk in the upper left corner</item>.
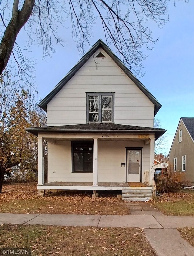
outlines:
M25 25L32 14L34 2L35 0L25 0L21 11L19 11L17 9L17 3L14 1L12 18L5 29L5 33L0 44L0 75L8 63L20 29Z

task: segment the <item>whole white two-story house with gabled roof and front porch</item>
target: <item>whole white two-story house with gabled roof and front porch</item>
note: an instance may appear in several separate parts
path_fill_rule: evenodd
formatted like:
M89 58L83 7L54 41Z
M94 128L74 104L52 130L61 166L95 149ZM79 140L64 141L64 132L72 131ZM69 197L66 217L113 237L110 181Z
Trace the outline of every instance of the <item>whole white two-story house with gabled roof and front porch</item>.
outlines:
M154 142L166 131L153 128L161 104L101 39L39 106L47 111L48 126L26 129L38 136L39 193L122 190L128 200L130 190L130 200L152 196Z

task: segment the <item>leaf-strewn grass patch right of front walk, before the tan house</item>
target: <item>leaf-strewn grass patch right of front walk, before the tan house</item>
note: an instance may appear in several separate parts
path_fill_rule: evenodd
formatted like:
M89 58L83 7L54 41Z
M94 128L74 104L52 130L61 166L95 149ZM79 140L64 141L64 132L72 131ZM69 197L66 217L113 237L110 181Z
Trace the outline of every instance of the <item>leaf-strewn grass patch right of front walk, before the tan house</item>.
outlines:
M194 191L165 194L151 204L165 215L194 216Z

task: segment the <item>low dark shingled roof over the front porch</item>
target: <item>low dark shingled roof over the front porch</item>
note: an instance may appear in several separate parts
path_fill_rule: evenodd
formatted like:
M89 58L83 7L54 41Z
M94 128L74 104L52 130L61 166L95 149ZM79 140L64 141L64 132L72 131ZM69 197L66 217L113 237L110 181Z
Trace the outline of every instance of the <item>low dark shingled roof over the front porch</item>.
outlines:
M86 123L80 125L59 125L26 128L26 131L38 136L38 133L154 133L158 139L165 129L113 123Z

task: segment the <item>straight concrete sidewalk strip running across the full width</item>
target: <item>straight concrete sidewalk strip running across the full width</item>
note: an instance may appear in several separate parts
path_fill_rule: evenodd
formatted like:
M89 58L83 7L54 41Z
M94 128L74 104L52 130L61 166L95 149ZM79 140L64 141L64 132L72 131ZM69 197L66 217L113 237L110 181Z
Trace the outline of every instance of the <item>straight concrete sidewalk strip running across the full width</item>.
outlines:
M182 228L194 227L194 217L165 215L82 215L49 213L0 213L0 224L55 226Z

